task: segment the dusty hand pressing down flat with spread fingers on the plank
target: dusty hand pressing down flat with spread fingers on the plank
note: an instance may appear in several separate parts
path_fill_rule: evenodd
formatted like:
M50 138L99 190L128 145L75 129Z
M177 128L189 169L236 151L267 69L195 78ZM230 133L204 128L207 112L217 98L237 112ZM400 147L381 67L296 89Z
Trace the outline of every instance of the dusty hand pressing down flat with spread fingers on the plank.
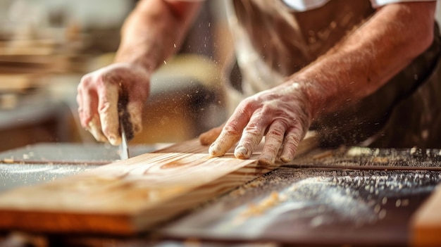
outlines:
M304 88L290 82L244 99L211 144L211 156L223 156L239 141L236 158L247 159L265 135L259 163L271 165L280 157L290 162L311 125L311 103ZM216 134L216 129L210 134Z

